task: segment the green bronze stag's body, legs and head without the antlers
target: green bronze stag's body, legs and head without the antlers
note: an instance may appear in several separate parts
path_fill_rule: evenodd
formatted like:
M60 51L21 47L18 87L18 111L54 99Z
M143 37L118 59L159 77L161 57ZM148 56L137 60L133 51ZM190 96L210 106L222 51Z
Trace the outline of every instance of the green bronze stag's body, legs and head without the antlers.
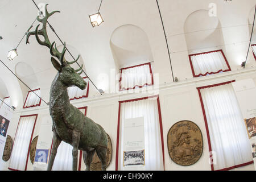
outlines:
M69 102L68 86L77 85L80 89L86 87L86 82L80 78L73 68L65 65L52 82L49 110L53 121L54 137L48 170L52 168L53 158L56 156L57 146L61 140L73 146L73 169L77 168L77 150L83 151L86 170L90 169L95 151L101 159L102 169L106 169L105 158L108 138L104 129Z

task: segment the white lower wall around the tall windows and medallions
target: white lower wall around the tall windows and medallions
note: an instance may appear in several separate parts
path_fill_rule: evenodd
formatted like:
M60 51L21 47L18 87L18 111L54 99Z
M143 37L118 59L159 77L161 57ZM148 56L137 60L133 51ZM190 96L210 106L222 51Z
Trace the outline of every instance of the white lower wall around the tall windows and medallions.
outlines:
M196 87L203 85L216 84L219 82L225 82L229 80L243 80L245 78L253 78L256 82L256 71L250 72L237 72L233 74L217 74L215 76L207 76L195 78L195 81L190 82L177 82L177 84L170 84L167 86L160 86L159 99L162 113L163 122L163 139L164 139L164 158L166 170L210 170L209 164L209 148L207 141L207 134L205 130L203 112L201 110L201 104L199 94ZM81 100L72 101L76 107L88 106L86 115L92 118L95 122L104 127L106 133L109 134L112 139L112 161L108 170L115 170L115 150L117 141L117 122L118 122L118 101L128 100L131 98L145 97L148 94L134 93L134 94L113 94L112 96L101 96L96 98L84 98ZM10 122L8 134L12 138L15 136L16 127L18 125L20 115L39 114L36 121L36 127L32 138L39 135L40 125L43 118L49 118L49 110L47 106L31 107L28 109L22 109L15 111L14 117ZM174 123L181 120L193 121L200 127L203 134L203 155L199 161L192 166L184 167L179 166L172 162L167 147L167 133ZM50 132L50 133L49 133ZM45 135L52 135L52 131L49 128ZM43 136L41 136L43 138ZM51 142L51 141L47 141ZM9 162L5 163L7 169ZM81 169L85 169L85 165L82 162ZM28 159L27 170L33 170L32 163ZM236 168L233 170L254 170L254 165Z

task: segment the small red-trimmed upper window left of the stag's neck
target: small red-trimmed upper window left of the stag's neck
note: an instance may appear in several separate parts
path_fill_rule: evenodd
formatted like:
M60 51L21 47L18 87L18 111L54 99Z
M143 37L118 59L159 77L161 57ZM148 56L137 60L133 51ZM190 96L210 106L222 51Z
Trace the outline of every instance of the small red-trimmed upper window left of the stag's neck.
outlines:
M40 106L40 105L41 105L40 89L28 91L23 108L36 107L36 106Z

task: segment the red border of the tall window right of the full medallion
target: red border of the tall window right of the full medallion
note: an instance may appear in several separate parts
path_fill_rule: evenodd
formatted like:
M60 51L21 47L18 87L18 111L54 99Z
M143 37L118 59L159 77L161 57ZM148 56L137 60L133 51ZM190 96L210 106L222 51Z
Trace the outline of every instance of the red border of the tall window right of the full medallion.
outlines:
M214 87L214 86L220 86L220 85L230 84L230 83L235 82L235 81L236 81L236 80L232 80L232 81L222 82L222 83L220 83L220 84L213 84L213 85L207 85L207 86L197 87L197 91L198 91L198 93L199 93L199 98L200 98L200 102L201 102L201 107L202 107L203 115L204 115L205 129L206 129L206 131L207 131L207 140L208 140L208 147L209 147L209 152L210 152L210 159L213 159L213 158L212 158L212 145L211 145L211 143L210 143L209 127L208 127L208 123L207 123L207 117L206 117L205 109L204 109L204 102L203 102L203 98L202 98L202 96L201 96L200 89L205 89L205 88L210 88L210 87ZM212 162L212 161L211 161L211 162ZM217 171L226 171L226 170L230 170L230 169L233 169L233 168L246 166L246 165L252 164L252 163L253 163L253 161L247 162L247 163L243 163L243 164L239 164L239 165L232 166L232 167L228 167L228 168L224 168L224 169L219 169L219 170L217 170ZM211 167L212 171L214 171L213 163L210 164L210 167Z

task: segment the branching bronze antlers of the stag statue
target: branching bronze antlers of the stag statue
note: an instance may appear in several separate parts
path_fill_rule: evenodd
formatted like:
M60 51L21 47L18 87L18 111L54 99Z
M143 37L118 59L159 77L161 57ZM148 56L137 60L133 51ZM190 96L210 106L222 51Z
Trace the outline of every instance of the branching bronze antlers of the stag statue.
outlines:
M65 57L64 57L65 51L67 51L67 48L66 48L66 46L65 46L65 43L64 43L63 51L62 51L62 52L59 52L58 49L57 49L57 47L56 47L56 43L55 43L55 42L51 43L51 42L49 41L49 38L48 38L48 35L47 35L47 31L46 31L46 27L47 27L47 23L48 23L47 20L48 20L49 16L51 16L51 15L53 15L53 14L55 14L55 13L60 13L60 11L52 11L52 13L48 13L48 11L47 11L47 5L48 5L48 4L46 4L46 9L45 9L45 10L46 10L46 16L44 16L44 18L42 18L42 19L40 19L39 16L36 17L36 19L37 19L39 22L41 22L41 23L43 24L43 27L42 27L40 30L38 30L38 28L39 28L39 26L40 26L40 24L38 24L38 26L36 26L35 31L29 32L29 30L31 29L31 27L30 27L30 28L28 29L28 31L27 31L26 44L29 43L29 42L28 42L28 39L30 38L30 35L35 35L36 40L38 41L38 43L39 43L40 45L42 45L42 46L48 47L48 48L50 49L51 55L57 57L57 59L60 60L60 63L61 63L61 64L64 64L64 63L67 63L67 64L76 63L76 61L79 60L80 55L79 55L79 56L77 57L77 59L74 60L74 61L67 61L67 60L65 60ZM49 24L49 23L48 23L48 24ZM49 26L51 27L50 24L49 24ZM51 28L52 28L52 27L51 27ZM40 40L39 35L42 35L42 36L44 37L44 41ZM53 48L53 45L54 45L54 48ZM82 69L82 66L81 66L79 69L76 69L76 71L78 72L78 71L80 71L81 69ZM82 73L82 71L79 72L79 74L81 74L81 73Z

